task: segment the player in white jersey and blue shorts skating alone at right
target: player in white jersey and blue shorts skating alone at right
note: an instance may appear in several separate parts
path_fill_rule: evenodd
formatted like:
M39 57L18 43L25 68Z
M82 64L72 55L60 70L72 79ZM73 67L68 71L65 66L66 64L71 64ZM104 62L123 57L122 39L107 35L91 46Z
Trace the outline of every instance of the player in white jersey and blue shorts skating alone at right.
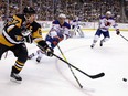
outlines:
M90 45L90 47L93 49L96 44L96 42L98 41L98 39L100 38L100 35L104 35L104 39L100 40L100 46L103 46L103 43L108 41L110 35L109 35L109 28L114 26L116 30L116 34L119 35L119 29L118 25L116 24L114 18L111 17L111 12L107 11L105 17L102 17L99 20L99 28L95 33L94 40L93 40L93 44Z

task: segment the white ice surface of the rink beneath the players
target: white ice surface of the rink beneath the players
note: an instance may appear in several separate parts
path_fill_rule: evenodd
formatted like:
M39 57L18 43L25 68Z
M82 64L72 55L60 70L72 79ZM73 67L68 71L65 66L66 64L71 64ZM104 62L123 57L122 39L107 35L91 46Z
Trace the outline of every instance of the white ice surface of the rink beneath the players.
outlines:
M28 60L20 73L23 81L17 84L10 81L15 57L9 52L0 61L0 96L128 96L128 83L122 81L128 78L128 41L110 32L110 40L104 46L98 41L90 49L95 31L84 33L85 38L77 35L58 45L71 64L90 75L104 72L104 77L92 79L73 68L84 86L81 89L65 63L43 56L41 63ZM127 32L121 34L128 39ZM28 44L28 49L29 54L38 50L34 44ZM57 47L55 54L62 57Z

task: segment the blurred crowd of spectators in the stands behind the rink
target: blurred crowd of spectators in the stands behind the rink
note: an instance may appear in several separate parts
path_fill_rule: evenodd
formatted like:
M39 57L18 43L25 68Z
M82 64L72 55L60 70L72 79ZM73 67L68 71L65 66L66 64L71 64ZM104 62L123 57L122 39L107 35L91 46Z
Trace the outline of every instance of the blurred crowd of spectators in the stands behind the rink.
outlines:
M81 20L90 22L97 21L106 11L111 11L118 22L128 19L128 1L125 0L9 0L9 6L7 0L0 0L0 20L22 13L25 6L33 7L38 20L43 21L54 20L62 12L68 19L77 15Z

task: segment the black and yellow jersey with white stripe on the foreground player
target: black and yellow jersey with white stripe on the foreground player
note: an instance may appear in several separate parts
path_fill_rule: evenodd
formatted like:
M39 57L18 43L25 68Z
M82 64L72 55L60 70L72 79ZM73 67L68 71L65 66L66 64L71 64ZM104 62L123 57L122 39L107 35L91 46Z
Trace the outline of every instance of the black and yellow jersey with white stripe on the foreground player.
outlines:
M23 28L31 30L32 39L35 42L42 40L41 25L39 23L34 21L26 24L24 14L15 14L12 20L4 25L2 34L0 34L0 43L7 46L23 43L23 35L21 33Z

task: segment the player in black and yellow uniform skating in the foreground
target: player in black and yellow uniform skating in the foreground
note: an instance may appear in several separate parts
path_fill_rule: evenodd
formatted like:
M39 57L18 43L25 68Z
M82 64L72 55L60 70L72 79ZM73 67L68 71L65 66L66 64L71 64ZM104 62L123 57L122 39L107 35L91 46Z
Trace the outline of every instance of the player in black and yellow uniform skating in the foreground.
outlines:
M22 81L19 73L28 60L28 49L24 41L35 42L45 50L46 55L52 56L53 51L42 39L41 25L34 20L35 11L31 7L26 7L23 14L13 15L12 20L4 25L2 34L0 34L0 58L9 50L18 57L10 74L11 79L18 83Z

